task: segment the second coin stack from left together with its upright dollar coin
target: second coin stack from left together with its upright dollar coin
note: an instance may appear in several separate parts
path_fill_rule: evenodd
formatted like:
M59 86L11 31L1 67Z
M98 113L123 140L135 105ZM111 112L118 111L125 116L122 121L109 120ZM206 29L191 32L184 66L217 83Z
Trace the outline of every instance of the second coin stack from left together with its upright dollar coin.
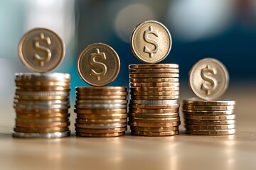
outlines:
M76 87L75 135L117 137L127 130L127 87L106 86L117 77L117 52L103 43L88 45L78 57L78 73L94 87Z

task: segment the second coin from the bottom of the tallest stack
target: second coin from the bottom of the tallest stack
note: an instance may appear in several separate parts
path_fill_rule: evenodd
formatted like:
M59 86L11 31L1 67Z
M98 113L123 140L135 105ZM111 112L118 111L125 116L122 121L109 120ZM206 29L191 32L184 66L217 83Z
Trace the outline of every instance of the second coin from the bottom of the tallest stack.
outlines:
M131 126L132 131L140 131L140 132L170 132L170 131L178 131L178 126L169 127L169 128L144 128L138 126Z

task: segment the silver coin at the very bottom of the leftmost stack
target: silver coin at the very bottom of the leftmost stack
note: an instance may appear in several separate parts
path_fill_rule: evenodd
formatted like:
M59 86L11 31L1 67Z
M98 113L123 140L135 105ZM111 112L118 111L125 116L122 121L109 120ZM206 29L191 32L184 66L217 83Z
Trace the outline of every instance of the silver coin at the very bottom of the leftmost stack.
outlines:
M12 132L13 137L21 138L58 138L70 136L70 130L65 132L50 132L50 133L25 133L25 132Z

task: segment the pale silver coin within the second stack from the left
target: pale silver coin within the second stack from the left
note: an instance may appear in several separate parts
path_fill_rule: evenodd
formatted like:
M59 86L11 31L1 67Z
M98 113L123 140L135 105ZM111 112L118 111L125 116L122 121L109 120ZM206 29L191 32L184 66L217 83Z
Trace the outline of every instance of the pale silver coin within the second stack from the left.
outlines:
M127 104L76 104L75 108L127 108Z

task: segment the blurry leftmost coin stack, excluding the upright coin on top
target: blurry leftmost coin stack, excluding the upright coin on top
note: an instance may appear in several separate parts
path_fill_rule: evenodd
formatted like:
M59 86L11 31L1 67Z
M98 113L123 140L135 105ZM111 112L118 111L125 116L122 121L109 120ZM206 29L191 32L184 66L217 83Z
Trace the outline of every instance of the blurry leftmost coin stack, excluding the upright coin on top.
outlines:
M70 135L70 74L16 74L14 137Z

